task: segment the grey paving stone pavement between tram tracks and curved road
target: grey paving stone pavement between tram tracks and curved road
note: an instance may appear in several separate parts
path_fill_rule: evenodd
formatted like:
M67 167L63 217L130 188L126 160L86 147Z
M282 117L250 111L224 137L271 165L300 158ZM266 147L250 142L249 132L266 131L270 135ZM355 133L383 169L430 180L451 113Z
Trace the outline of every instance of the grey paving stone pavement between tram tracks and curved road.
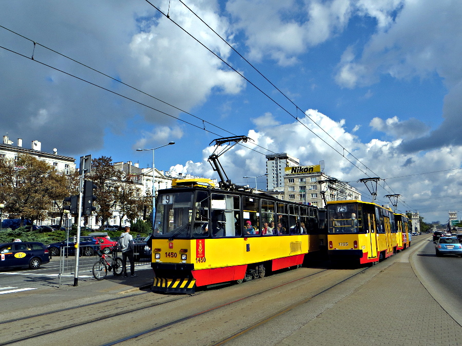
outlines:
M395 262L278 345L453 346L462 345L462 327L422 286L410 263Z

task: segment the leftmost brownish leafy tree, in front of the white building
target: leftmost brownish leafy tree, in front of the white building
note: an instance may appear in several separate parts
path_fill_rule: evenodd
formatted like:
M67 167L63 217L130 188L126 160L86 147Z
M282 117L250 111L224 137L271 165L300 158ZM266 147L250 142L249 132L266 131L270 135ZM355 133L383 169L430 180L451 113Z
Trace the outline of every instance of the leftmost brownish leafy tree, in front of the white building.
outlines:
M10 215L43 220L67 194L65 175L47 162L27 154L0 160L0 199Z

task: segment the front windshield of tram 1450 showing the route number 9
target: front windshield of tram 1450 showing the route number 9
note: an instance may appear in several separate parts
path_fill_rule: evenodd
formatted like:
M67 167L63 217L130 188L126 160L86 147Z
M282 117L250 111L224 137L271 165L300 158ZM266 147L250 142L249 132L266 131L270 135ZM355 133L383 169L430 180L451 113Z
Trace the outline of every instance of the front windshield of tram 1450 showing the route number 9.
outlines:
M160 193L153 236L190 237L193 197L194 193L189 191Z

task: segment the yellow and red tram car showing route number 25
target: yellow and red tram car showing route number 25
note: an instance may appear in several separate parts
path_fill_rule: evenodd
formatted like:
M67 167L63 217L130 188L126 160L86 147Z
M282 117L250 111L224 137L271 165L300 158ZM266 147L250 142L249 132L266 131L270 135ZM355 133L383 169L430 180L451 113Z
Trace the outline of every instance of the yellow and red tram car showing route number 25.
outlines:
M329 201L328 255L331 261L374 263L397 251L393 212L360 200Z

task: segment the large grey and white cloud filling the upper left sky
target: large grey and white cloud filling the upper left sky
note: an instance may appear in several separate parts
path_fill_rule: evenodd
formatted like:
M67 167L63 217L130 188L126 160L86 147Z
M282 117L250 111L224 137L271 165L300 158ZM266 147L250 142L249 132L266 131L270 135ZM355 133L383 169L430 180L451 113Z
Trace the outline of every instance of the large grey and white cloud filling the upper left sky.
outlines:
M165 13L170 5L170 18L197 35L218 55L228 57L230 48L216 39L199 19L186 13L183 5L170 4L168 0L157 5ZM220 35L230 39L229 24L218 14L216 1L196 1L190 6ZM204 103L213 92L236 94L245 86L240 76L144 2L99 2L97 6L87 0L2 2L0 21L37 43L186 111ZM0 79L8 81L0 85L0 119L4 131L25 140L36 139L40 133L44 150L58 147L66 155L101 149L107 129L114 133L124 131L127 121L136 115L159 125L165 130L162 133L181 137L175 119L161 113L178 116L177 109L39 45L34 48L32 42L4 29L0 32L0 43L26 56L33 54L35 59L33 62L0 51L2 66L8 67L0 68ZM62 69L153 109L36 62ZM156 145L157 140L165 137L156 128L150 134L146 131L137 134L141 139L135 146Z

